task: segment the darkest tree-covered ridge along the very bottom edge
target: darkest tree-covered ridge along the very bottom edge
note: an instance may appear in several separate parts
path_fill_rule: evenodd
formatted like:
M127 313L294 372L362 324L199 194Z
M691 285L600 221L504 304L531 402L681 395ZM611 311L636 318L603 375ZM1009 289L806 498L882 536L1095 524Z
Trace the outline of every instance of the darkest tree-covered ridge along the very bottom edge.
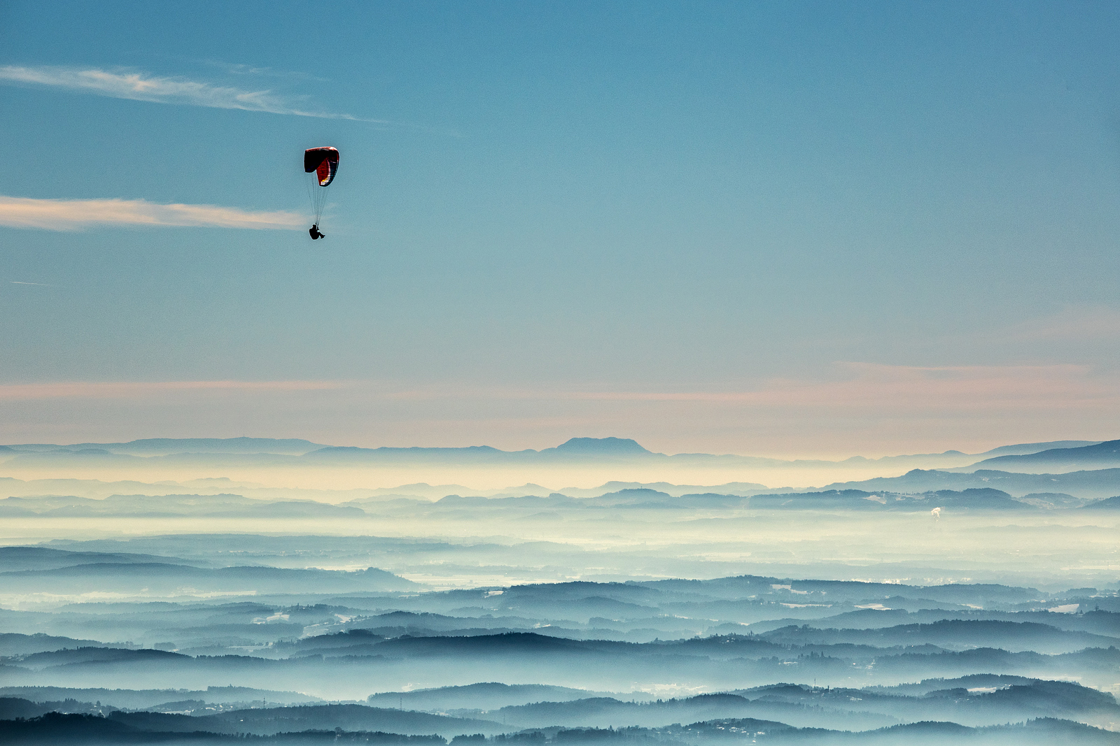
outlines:
M46 715L29 719L0 720L12 744L379 744L382 746L446 746L439 735L409 735L368 730L368 723L392 721L458 724L468 729L469 720L411 712L393 717L392 711L382 718L361 717L356 705L323 705L318 708L279 708L271 710L236 710L222 716L190 717L161 712L111 712L108 717L90 714ZM315 709L326 710L316 712ZM371 709L371 708L364 708ZM233 720L232 718L242 718ZM261 720L271 717L273 720ZM362 730L346 730L340 723ZM495 724L497 725L497 724ZM190 728L196 728L190 730ZM205 728L205 729L203 729ZM295 730L293 728L307 728ZM437 728L429 727L428 730ZM967 743L977 746L1051 746L1076 743L1084 746L1120 744L1120 734L1058 718L1035 718L1015 725L972 728L956 723L920 721L887 726L874 730L837 730L829 728L797 728L776 720L758 718L719 718L682 726L679 723L661 728L626 727L595 728L552 727L545 730L501 733L487 738L485 733L459 734L451 740L459 746L487 746L530 744L539 746L604 746L607 744L637 744L641 746L685 746L685 744L804 744L805 746L836 746L838 744L879 744L883 746L925 746L926 744ZM267 735L250 735L263 731ZM446 730L445 730L446 731ZM454 731L454 726L452 726ZM734 739L734 740L732 740ZM745 740L749 739L749 740Z

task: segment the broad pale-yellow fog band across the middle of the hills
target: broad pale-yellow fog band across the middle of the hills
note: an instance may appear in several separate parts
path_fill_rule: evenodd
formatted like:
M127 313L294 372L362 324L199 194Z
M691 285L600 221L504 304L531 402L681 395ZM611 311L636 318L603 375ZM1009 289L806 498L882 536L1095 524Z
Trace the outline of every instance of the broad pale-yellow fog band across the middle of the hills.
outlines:
M69 541L277 567L380 567L432 588L738 574L907 583L1110 585L1120 514L942 510L380 512L339 518L6 518L6 545ZM411 512L411 511L404 511ZM697 514L700 512L700 514ZM267 545L206 535L265 535ZM292 538L284 538L286 536ZM319 540L295 537L318 536ZM326 537L353 537L332 541ZM252 588L245 588L251 593ZM0 591L0 603L9 603Z

